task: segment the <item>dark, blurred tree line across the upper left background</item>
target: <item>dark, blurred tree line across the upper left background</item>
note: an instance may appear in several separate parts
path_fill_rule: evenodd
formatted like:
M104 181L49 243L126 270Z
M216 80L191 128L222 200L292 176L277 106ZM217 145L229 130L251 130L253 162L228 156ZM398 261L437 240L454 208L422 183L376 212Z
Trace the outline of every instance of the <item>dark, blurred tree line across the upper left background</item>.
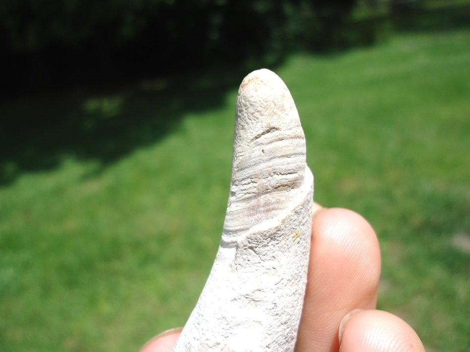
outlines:
M10 87L169 74L347 44L356 0L3 0Z

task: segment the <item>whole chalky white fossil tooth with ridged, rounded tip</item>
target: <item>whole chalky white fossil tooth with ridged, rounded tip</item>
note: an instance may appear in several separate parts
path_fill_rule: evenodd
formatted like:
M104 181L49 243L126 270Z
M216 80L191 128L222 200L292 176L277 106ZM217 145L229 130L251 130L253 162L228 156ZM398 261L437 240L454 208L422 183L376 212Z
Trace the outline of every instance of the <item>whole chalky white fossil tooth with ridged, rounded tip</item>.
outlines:
M262 69L236 99L229 203L217 257L173 352L294 351L313 176L284 82Z

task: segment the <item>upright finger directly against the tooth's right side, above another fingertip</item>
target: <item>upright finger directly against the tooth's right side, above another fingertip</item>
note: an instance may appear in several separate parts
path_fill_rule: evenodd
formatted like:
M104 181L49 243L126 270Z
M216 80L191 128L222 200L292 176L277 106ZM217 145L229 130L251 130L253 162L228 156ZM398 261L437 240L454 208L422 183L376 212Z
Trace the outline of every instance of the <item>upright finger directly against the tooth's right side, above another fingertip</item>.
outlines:
M314 214L307 289L295 351L338 351L338 330L352 309L373 309L380 249L368 222L340 208Z

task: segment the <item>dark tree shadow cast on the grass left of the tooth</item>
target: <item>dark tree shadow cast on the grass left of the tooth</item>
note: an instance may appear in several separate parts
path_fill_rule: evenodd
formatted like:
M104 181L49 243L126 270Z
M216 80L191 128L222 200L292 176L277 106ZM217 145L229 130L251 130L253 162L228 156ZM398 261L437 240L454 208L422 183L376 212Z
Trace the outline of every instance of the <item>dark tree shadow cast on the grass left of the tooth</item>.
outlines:
M181 117L225 103L246 67L141 80L100 92L75 91L0 103L0 186L51 170L65 156L99 160L102 171L136 148L161 140Z

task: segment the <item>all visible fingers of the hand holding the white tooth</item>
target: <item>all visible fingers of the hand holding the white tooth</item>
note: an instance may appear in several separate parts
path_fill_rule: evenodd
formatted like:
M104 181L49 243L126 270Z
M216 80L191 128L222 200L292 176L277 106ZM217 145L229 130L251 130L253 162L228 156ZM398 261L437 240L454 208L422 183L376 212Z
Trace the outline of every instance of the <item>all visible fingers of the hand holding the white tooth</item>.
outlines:
M414 330L375 310L380 249L357 213L315 204L307 289L296 352L422 352ZM170 352L181 328L150 340L141 352Z

